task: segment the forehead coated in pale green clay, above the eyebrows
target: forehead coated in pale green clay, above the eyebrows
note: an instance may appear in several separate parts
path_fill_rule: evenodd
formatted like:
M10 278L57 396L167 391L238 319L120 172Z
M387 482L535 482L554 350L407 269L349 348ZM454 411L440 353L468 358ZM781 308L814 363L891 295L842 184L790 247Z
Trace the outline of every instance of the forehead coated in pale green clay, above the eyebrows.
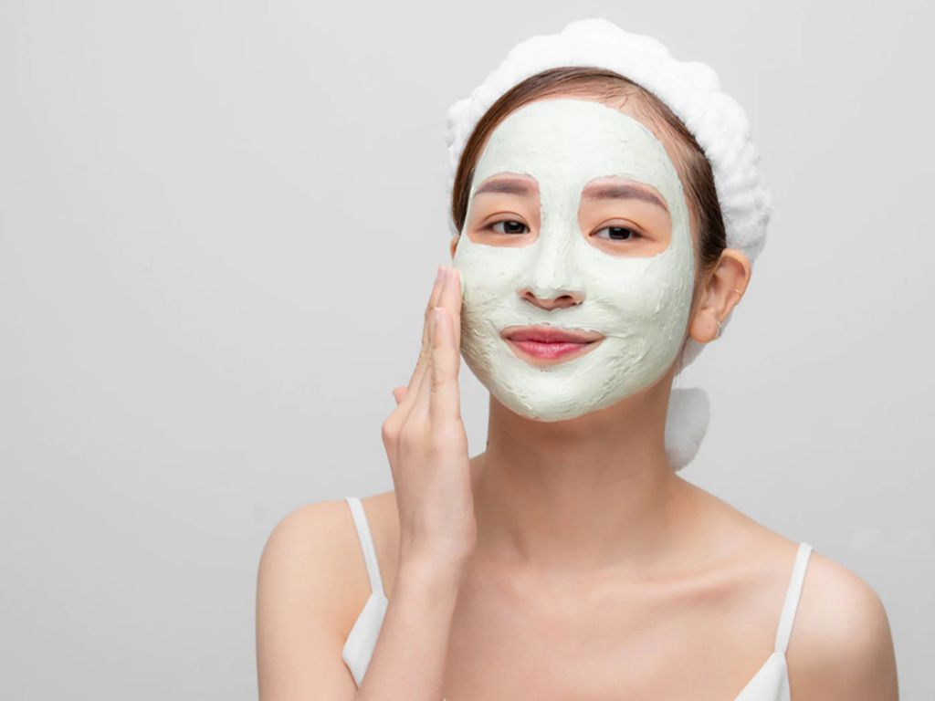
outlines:
M580 194L589 180L607 177L645 182L669 203L681 194L675 166L654 134L619 109L587 99L539 100L511 112L488 138L471 195L499 173L537 179L543 198L550 186Z

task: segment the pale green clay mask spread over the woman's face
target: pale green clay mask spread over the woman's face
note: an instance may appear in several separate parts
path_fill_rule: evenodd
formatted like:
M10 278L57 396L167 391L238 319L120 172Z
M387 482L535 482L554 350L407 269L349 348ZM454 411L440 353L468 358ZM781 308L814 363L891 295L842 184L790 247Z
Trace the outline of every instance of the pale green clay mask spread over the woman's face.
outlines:
M539 186L538 236L524 234L525 245L479 243L466 233L474 193L499 174L525 175ZM662 195L671 220L664 250L611 251L590 239L592 232L582 231L583 188L612 177L645 183ZM510 225L496 229L509 231ZM481 154L453 265L464 293L461 350L497 400L541 421L611 406L665 374L683 341L695 258L682 183L653 133L619 110L583 99L531 103L496 127ZM581 302L541 308L524 291L540 300L574 293ZM534 325L604 338L576 357L533 365L501 331Z

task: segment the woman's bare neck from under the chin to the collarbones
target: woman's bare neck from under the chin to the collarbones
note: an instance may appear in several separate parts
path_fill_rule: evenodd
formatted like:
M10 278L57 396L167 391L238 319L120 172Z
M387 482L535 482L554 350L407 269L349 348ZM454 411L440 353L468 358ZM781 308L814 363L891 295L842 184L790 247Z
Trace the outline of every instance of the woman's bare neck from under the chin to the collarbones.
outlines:
M667 377L563 422L527 419L491 395L474 480L477 551L575 572L671 551L695 488L666 458L670 386Z

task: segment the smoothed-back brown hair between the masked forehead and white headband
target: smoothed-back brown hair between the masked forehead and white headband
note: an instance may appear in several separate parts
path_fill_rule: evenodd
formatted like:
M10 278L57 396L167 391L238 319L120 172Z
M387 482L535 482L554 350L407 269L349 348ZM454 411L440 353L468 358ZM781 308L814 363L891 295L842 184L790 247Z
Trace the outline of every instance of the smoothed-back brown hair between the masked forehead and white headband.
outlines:
M671 137L679 156L673 159L673 163L682 180L691 227L697 235L698 270L701 274L711 270L726 248L727 238L711 164L695 137L665 103L638 83L606 68L567 66L544 70L514 85L484 113L468 138L454 174L451 204L452 218L458 231L461 231L468 215L474 167L487 137L512 111L559 93L597 96L604 102L626 101L633 95L636 98L633 105L638 114ZM700 279L701 275L698 275L696 284ZM692 304L694 307L694 298Z

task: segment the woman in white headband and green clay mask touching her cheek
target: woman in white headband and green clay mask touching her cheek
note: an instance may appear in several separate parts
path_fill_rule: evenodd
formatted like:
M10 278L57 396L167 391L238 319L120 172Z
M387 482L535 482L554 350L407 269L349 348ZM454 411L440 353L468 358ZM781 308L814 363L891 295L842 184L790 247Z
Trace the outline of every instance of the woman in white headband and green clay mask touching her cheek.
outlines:
M710 68L572 22L450 126L453 265L382 427L396 490L269 537L263 701L896 699L870 586L676 474L706 405L673 379L770 216ZM491 391L473 457L462 352Z

